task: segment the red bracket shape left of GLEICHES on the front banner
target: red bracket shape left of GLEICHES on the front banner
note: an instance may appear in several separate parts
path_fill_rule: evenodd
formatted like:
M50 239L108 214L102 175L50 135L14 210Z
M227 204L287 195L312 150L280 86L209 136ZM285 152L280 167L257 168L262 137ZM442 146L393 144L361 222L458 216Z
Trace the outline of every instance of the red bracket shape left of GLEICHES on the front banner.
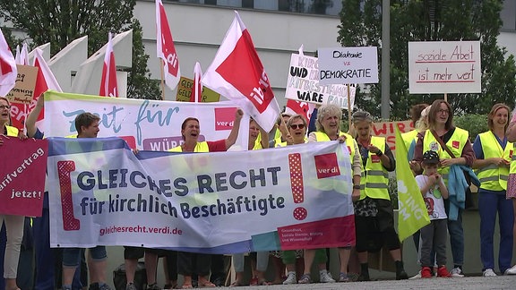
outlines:
M73 215L72 179L70 173L75 171L73 161L58 161L59 187L61 189L61 209L63 211L63 228L65 231L77 231L81 221Z

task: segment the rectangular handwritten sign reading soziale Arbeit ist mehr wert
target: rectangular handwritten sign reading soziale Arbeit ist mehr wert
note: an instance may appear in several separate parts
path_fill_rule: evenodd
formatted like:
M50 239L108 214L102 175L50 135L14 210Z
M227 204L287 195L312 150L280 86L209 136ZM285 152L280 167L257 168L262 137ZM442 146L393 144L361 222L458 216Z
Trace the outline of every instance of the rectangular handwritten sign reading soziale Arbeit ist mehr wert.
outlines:
M409 92L479 93L479 41L409 42Z

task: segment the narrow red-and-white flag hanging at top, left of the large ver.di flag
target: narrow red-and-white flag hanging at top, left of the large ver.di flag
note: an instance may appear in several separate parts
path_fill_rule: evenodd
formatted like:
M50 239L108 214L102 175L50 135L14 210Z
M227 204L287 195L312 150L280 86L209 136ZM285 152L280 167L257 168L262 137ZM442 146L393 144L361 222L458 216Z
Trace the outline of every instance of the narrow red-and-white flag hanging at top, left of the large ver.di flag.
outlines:
M172 33L168 26L167 13L165 13L161 0L156 0L156 48L158 57L163 61L165 83L170 90L174 90L179 83L181 71L174 39L172 39Z

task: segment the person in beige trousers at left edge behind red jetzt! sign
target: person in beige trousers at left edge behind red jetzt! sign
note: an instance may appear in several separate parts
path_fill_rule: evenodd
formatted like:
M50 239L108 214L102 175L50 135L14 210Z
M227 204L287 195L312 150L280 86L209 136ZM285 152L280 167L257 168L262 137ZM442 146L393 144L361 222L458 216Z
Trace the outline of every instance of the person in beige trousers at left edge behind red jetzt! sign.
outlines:
M11 104L9 100L0 97L0 135L8 137L27 138L22 132L18 131L11 124ZM0 150L4 144L4 137L0 137ZM16 285L16 274L18 271L18 260L20 259L20 248L22 246L23 238L23 222L25 217L0 215L0 226L5 222L5 229L7 233L7 243L5 244L5 259L4 263L4 278L5 289L16 290L19 289Z

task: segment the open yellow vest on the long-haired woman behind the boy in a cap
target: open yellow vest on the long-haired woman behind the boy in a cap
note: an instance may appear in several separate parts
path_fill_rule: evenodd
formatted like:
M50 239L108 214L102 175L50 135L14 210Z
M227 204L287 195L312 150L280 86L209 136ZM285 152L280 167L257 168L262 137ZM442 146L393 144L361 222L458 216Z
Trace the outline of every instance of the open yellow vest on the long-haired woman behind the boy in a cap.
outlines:
M462 149L464 149L464 146L467 142L469 142L469 132L456 127L452 137L448 142L446 142L446 146L452 151L455 158L460 158L462 155ZM437 152L440 159L452 158L445 149L441 148L441 144L439 144L439 141L435 140L434 135L432 132L430 132L430 130L426 130L423 140L423 153L425 153L427 150L433 150ZM439 167L437 172L443 176L444 184L448 186L448 174L450 173L450 166Z

